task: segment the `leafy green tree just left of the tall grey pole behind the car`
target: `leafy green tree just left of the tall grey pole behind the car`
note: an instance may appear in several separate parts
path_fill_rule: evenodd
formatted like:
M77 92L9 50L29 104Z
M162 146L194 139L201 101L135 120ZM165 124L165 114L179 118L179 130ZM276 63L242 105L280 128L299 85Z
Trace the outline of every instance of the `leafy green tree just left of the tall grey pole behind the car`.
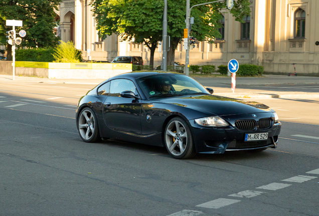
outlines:
M116 33L120 41L144 43L150 49L149 65L153 65L162 38L163 0L92 0L91 5L100 37Z

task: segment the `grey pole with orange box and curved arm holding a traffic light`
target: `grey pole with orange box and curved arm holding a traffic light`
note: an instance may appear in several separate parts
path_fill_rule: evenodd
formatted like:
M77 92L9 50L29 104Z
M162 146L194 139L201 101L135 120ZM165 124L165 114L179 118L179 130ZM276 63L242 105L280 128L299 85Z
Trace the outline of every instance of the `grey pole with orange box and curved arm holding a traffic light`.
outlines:
M205 4L210 4L210 3L216 3L219 1L225 1L225 0L217 0L217 1L211 1L211 2L206 2L206 3L201 3L201 4L196 4L193 5L190 8L190 0L186 0L186 28L187 28L187 46L185 46L184 48L186 49L186 54L185 54L185 73L186 75L190 75L190 32L191 32L191 28L190 28L190 19L191 19L191 10L193 9L193 7L196 6L201 6L201 5L205 5ZM226 0L227 1L227 7L228 9L233 8L234 6L234 0ZM164 31L164 29L163 29ZM185 41L184 41L185 42Z

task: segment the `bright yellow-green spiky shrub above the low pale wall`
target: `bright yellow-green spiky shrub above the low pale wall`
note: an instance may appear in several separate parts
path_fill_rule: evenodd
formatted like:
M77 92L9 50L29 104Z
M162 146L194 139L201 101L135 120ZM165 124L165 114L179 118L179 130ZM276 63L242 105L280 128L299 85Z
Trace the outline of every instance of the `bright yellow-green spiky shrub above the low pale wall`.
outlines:
M80 52L74 47L73 42L63 42L55 48L55 53L53 53L53 57L55 58L55 62L66 62L66 63L77 63L80 61L81 56L79 56Z

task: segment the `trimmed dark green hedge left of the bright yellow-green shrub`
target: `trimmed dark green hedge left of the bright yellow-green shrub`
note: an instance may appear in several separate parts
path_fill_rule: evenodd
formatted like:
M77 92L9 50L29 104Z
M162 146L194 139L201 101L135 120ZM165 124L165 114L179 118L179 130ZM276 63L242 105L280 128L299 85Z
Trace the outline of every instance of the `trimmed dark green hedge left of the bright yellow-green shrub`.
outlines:
M28 48L17 49L16 60L17 61L41 61L41 62L53 62L54 57L53 48Z

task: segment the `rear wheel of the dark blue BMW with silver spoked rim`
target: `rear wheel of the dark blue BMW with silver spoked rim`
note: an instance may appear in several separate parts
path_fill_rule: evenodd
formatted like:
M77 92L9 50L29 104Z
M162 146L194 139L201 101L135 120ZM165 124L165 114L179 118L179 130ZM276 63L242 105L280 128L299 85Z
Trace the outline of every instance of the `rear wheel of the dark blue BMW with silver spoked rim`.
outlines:
M91 108L85 107L80 112L78 130L85 142L99 142L101 140L97 118Z

